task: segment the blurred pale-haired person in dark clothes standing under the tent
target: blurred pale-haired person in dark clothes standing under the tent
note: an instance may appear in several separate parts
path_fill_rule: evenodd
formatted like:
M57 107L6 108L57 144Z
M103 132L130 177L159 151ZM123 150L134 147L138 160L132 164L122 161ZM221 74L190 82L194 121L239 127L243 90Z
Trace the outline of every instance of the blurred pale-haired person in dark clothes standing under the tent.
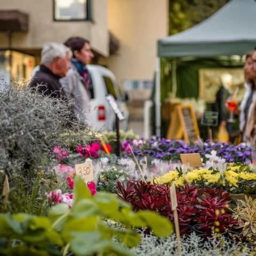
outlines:
M227 126L227 119L229 118L229 110L226 107L226 102L231 96L230 87L232 85L232 76L228 73L221 76L221 87L216 94L215 110L219 113L220 126Z

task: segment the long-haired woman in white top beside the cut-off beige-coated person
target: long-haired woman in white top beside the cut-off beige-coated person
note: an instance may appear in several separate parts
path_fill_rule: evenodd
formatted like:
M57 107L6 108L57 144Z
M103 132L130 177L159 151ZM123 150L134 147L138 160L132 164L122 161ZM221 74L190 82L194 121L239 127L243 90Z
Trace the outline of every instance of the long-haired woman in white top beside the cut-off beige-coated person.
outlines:
M255 84L253 82L254 78L254 70L253 70L253 62L252 62L252 54L253 52L247 53L245 55L245 64L244 64L244 79L245 79L245 89L246 92L244 94L244 98L241 102L239 109L239 128L243 134L243 141L246 142L245 138L245 128L246 123L248 121L249 116L252 113L253 102L256 100L256 90Z

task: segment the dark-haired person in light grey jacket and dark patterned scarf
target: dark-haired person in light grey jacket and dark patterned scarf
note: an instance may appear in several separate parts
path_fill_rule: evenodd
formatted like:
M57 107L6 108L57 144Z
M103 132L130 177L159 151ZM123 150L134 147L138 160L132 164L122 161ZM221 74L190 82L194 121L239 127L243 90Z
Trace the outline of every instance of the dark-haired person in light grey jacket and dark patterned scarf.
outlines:
M70 37L64 43L72 52L71 68L65 78L60 80L63 90L75 103L73 111L84 125L90 125L88 114L90 98L93 98L92 78L86 65L94 57L90 43L82 37Z

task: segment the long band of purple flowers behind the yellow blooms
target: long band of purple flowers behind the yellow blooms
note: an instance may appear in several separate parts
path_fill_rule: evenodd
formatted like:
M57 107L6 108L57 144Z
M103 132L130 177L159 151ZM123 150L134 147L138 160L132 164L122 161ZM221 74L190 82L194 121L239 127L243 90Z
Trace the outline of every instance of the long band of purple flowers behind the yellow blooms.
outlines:
M138 157L148 156L157 159L180 160L180 154L199 153L206 163L209 158L214 157L215 152L220 160L225 159L225 162L251 162L251 148L243 144L234 146L228 143L195 143L188 145L181 140L167 140L165 138L151 137L149 140L133 140L124 141L121 150L124 155L130 155L130 148L134 150L134 154Z

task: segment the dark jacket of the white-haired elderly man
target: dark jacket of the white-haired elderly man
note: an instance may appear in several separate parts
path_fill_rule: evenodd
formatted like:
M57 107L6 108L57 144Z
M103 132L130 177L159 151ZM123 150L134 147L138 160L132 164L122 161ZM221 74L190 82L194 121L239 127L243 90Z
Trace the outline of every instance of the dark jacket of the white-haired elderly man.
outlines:
M61 84L59 82L60 78L60 76L53 74L49 68L41 65L30 82L30 86L44 95L60 98L62 94Z

